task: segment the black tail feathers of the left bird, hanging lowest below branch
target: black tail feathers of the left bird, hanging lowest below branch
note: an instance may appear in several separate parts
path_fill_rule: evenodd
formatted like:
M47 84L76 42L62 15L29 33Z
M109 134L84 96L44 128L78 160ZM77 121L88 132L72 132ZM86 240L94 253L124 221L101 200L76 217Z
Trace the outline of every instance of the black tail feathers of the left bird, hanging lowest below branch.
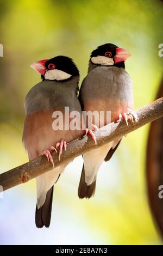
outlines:
M51 223L51 212L52 212L52 201L53 201L53 187L47 192L45 203L41 208L37 209L36 205L36 215L35 223L37 228L49 227Z

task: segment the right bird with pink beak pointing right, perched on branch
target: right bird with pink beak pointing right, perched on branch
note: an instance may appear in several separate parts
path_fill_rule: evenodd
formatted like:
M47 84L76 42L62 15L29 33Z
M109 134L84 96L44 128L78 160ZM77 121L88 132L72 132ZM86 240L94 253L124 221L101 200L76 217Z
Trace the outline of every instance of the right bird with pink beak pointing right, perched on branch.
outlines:
M128 57L130 53L127 50L111 43L98 46L91 53L88 72L80 87L79 101L84 112L104 111L104 120L99 115L102 126L123 119L127 125L128 120L137 121L133 111L133 82L124 64ZM107 111L111 113L110 119L106 118ZM99 121L95 124L93 114L88 118L86 126L90 121L92 127L89 127L89 131L92 136L92 130L101 126L99 126ZM96 138L93 139L96 143ZM83 154L84 164L78 187L79 198L91 198L95 194L98 170L104 160L110 160L121 139Z

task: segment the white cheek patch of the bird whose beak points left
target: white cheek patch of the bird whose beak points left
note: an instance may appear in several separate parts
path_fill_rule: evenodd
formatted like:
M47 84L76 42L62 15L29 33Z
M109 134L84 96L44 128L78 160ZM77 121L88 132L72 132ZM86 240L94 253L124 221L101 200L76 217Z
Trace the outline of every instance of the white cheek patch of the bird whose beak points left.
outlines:
M45 80L66 80L68 78L70 78L71 75L61 71L59 69L52 69L52 70L47 70L45 73Z

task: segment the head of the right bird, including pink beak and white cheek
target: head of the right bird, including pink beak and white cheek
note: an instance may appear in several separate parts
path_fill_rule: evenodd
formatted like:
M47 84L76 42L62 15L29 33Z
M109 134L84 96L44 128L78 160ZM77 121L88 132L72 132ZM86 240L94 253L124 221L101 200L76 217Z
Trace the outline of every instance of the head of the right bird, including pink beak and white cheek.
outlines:
M124 61L129 56L130 53L123 48L114 44L104 44L92 51L91 62L97 65L118 66L124 68Z

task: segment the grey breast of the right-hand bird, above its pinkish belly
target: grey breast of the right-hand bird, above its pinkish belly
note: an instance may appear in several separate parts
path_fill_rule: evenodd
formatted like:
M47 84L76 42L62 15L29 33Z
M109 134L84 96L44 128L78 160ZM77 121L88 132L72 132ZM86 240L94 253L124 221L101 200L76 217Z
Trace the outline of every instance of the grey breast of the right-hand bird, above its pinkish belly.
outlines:
M133 99L133 83L123 68L97 66L84 79L80 91L82 102L106 98L125 102Z

